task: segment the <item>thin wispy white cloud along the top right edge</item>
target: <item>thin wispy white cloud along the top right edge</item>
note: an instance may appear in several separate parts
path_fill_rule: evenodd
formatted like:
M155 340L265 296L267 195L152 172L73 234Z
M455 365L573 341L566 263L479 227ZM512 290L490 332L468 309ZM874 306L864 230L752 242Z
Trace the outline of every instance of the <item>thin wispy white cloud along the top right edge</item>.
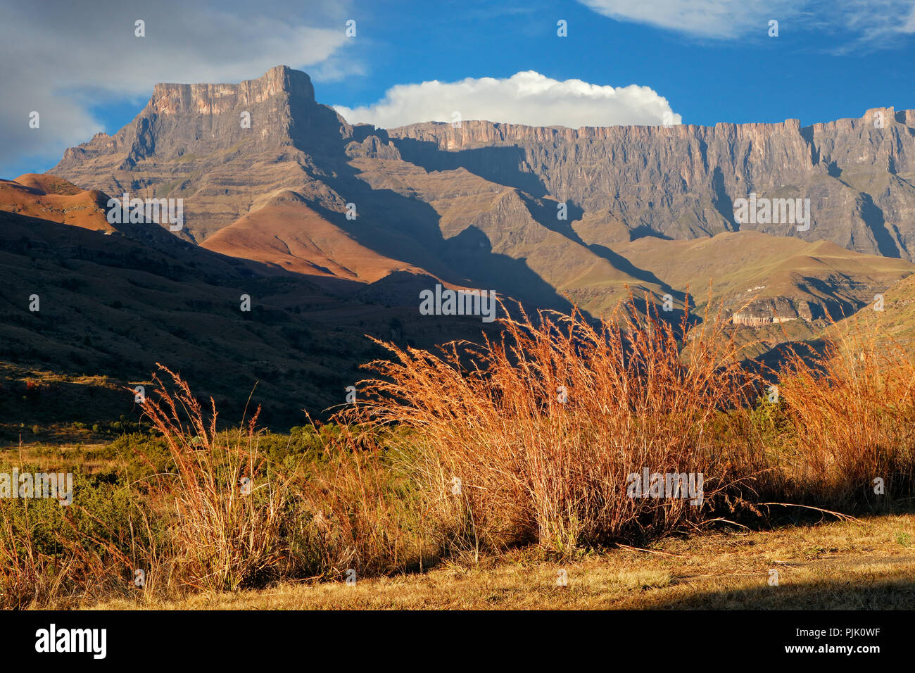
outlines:
M825 31L886 47L915 32L915 0L579 0L617 21L647 24L697 38L765 38L770 19L780 31Z

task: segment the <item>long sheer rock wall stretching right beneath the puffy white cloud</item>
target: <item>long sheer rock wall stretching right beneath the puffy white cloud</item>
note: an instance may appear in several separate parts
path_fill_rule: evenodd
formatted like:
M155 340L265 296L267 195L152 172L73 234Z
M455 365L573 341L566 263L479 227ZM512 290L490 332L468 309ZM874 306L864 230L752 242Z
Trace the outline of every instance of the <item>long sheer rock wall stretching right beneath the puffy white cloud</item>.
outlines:
M912 110L868 110L862 119L803 128L794 119L580 129L469 121L388 134L405 159L425 168L464 167L536 196L549 194L625 223L631 238L754 229L877 255L915 253ZM751 192L809 199L810 228L737 222L734 201ZM616 236L602 243L619 242Z

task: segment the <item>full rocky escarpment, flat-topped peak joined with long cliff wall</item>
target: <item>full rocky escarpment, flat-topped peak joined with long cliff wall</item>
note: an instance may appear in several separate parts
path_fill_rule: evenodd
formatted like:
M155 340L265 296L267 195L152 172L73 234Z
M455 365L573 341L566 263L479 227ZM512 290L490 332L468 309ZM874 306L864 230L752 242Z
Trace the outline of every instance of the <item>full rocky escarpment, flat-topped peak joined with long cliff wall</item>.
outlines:
M107 193L183 197L187 231L202 240L280 190L341 211L350 197L333 179L352 177L354 157L465 168L566 201L607 225L598 244L619 240L621 225L630 238L752 229L877 255L915 252L915 111L891 107L805 127L796 119L578 129L469 120L385 132L349 125L315 101L307 74L279 66L239 84L158 84L130 125L70 148L51 172ZM738 222L734 201L750 193L809 200L809 227Z

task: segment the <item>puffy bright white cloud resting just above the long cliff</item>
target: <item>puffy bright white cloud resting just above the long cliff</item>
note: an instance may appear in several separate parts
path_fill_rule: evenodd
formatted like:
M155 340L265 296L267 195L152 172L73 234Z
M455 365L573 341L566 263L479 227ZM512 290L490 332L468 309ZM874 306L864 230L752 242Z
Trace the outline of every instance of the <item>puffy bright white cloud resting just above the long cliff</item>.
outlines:
M371 105L334 106L350 124L394 128L415 122L463 120L532 126L610 126L680 124L667 99L646 86L617 87L581 80L558 81L539 72L518 72L507 79L468 77L454 82L399 84Z

